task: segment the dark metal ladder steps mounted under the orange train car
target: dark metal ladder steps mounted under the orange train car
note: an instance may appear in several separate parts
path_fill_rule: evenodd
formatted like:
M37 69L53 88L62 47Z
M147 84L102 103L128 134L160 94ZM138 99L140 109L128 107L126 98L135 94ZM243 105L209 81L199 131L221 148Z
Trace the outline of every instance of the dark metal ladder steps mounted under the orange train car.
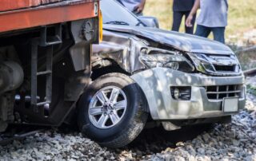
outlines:
M54 26L51 31L47 31L47 26L42 27L41 36L32 41L31 46L31 101L30 104L34 108L34 112L39 112L38 107L51 103L52 97L52 68L53 68L53 55L54 45L62 43L62 24ZM54 35L52 31L54 30ZM46 70L38 72L38 46L46 48ZM46 77L46 97L43 102L38 102L38 76ZM44 111L40 113L44 115Z

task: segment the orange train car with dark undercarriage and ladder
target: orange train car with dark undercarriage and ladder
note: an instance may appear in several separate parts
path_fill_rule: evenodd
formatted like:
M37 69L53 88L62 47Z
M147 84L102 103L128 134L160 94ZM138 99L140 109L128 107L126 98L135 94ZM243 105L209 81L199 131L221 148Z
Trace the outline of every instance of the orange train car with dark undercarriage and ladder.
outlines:
M100 23L98 0L0 1L0 132L69 122L90 82Z

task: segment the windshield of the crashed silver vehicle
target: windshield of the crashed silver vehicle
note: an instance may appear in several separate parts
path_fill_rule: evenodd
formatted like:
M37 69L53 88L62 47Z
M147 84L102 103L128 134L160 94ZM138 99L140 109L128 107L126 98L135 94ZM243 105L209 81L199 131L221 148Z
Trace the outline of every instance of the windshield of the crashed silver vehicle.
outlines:
M143 26L134 14L115 0L102 0L101 10L104 24Z

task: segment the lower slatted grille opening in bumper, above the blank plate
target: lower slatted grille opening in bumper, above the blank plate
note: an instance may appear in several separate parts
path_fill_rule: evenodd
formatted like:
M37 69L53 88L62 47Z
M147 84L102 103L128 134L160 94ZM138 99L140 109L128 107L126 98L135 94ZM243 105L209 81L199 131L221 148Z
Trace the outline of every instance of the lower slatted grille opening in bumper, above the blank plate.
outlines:
M222 100L229 97L240 97L242 85L206 86L206 94L209 100Z

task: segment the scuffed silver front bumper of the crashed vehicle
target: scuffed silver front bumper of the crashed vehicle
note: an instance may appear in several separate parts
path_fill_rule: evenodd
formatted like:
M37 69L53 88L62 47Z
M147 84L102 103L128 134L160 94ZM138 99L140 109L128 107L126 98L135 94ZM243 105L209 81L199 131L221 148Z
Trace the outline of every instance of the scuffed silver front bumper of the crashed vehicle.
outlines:
M200 73L182 73L173 69L154 68L131 78L142 88L153 120L184 120L226 116L222 100L209 100L205 86L244 84L244 77L208 77ZM174 100L170 87L190 86L190 100ZM246 86L242 86L238 108L246 104Z

